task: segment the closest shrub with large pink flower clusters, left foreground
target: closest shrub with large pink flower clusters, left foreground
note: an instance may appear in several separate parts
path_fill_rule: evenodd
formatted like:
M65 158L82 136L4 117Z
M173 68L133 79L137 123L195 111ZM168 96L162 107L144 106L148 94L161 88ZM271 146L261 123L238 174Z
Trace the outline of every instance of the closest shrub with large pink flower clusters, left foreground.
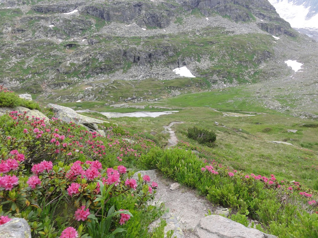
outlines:
M2 161L13 160L17 154L20 153L8 153ZM157 186L148 179L136 181L129 178L124 166L103 170L99 161L76 161L70 165L63 162L53 165L52 162L43 161L34 164L30 171L25 169L24 161L17 161L17 164L14 169L1 174L0 210L9 216L21 216L28 220L32 232L39 237L56 237L59 234L60 237L76 237L77 232L81 237L86 237L88 234L84 233L88 230L85 224L90 222L89 218L101 224L106 219L106 213L112 219L108 221L108 230L103 233L110 234L111 230L133 217L128 210L115 212L112 199L120 195L134 195L134 204L146 206L153 198L153 188ZM109 213L111 206L113 211ZM39 213L50 218L52 224L38 219ZM58 220L56 224L53 222L55 219ZM1 216L1 223L7 221L7 216ZM79 227L80 224L84 225L80 232L68 227ZM67 228L61 233L63 227Z

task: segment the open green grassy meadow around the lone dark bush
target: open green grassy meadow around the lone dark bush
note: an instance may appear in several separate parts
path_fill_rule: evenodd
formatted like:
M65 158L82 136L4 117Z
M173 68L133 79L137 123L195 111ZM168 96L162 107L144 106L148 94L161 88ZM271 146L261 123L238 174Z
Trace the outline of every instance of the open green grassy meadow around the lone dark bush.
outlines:
M185 122L175 124L172 129L176 131L180 141L189 142L196 147L201 152L201 157L215 159L246 173L265 176L274 174L278 180L295 180L309 188L318 189L316 121L264 108L259 102L253 101L249 91L242 87L184 94L143 105L146 106L145 109L107 107L98 108L98 111L179 110L178 113L156 118L121 117L111 118L110 121L135 130L156 132L155 137L162 146L167 143L169 136L161 133L162 126L173 121ZM163 108L154 108L155 106ZM232 116L225 116L223 113ZM218 126L215 122L218 122ZM194 125L216 132L217 140L213 147L199 145L187 137L187 129ZM288 142L293 146L270 141Z

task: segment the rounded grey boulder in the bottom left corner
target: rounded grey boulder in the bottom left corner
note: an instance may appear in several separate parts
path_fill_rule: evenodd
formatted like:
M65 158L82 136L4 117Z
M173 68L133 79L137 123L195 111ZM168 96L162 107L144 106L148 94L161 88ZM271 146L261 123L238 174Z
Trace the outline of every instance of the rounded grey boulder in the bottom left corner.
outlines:
M2 238L31 238L31 228L23 218L14 218L0 225L0 237Z

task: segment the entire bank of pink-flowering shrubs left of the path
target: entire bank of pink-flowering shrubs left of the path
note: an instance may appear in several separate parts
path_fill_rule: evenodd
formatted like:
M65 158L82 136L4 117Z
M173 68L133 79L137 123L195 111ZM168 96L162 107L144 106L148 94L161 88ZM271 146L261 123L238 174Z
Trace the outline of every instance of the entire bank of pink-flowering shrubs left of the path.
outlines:
M161 213L148 205L157 184L125 165L154 146L142 134L100 137L54 117L1 116L0 222L23 217L36 237L110 237L125 227L146 237Z

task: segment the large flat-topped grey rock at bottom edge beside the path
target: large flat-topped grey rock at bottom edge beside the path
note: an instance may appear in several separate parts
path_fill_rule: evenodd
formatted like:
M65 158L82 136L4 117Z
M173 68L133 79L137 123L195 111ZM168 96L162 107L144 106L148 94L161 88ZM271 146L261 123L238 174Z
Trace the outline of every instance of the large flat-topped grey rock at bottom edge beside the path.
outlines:
M198 238L277 238L218 215L201 219L194 232Z

